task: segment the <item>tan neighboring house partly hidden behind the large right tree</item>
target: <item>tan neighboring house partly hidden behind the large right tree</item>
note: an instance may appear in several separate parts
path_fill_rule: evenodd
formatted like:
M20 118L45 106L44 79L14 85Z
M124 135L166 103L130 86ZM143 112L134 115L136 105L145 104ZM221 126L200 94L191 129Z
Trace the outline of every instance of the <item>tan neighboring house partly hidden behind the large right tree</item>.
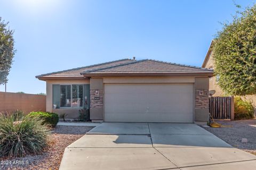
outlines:
M203 68L206 69L213 69L214 70L214 60L213 60L213 41L211 42L211 45L207 51L207 54L205 56L204 62L202 64ZM209 90L215 90L215 94L213 96L223 96L225 95L222 89L218 86L218 75L213 76L209 79ZM243 97L246 100L250 100L253 104L254 110L256 107L256 95L247 95Z

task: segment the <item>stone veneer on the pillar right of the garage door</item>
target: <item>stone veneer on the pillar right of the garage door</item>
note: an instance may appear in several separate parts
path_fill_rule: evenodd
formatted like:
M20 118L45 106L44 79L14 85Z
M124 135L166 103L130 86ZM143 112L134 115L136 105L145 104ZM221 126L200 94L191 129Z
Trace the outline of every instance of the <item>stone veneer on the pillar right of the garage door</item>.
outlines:
M200 91L203 91L202 95L199 95ZM209 108L209 90L196 90L195 96L195 109Z

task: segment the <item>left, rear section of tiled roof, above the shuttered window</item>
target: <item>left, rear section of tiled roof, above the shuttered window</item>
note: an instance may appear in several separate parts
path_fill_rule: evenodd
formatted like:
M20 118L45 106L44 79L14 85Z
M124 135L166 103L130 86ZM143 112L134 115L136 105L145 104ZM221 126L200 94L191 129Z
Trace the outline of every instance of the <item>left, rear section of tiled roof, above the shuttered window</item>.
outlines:
M39 80L67 79L67 78L81 79L81 78L84 78L84 76L81 75L82 72L95 70L95 69L102 69L102 68L105 68L105 67L115 66L115 65L124 64L124 63L129 63L129 62L133 62L133 61L134 60L125 58L125 59L122 59L122 60L116 60L116 61L111 61L111 62L106 62L106 63L94 64L94 65L89 65L89 66L84 66L84 67L77 67L75 69L69 69L69 70L63 70L63 71L52 72L52 73L47 73L47 74L41 74L41 75L37 75L36 78L38 78Z

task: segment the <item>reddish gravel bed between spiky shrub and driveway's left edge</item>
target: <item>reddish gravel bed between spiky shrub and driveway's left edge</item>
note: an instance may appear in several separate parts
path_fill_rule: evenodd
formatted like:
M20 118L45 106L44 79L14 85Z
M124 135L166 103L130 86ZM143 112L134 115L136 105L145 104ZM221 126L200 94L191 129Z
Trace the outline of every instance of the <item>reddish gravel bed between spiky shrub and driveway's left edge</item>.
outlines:
M43 154L14 159L0 158L0 169L59 169L65 148L92 128L89 126L58 125L53 129L50 136L50 146L45 149Z

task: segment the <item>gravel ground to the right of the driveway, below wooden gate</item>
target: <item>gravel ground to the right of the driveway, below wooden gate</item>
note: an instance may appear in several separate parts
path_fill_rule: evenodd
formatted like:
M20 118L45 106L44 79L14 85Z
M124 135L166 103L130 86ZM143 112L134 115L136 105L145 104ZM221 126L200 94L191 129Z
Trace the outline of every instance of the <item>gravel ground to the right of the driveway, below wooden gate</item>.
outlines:
M231 128L204 128L215 134L229 145L256 155L256 119L241 121L216 121L222 125L231 125ZM248 140L242 143L242 138Z

